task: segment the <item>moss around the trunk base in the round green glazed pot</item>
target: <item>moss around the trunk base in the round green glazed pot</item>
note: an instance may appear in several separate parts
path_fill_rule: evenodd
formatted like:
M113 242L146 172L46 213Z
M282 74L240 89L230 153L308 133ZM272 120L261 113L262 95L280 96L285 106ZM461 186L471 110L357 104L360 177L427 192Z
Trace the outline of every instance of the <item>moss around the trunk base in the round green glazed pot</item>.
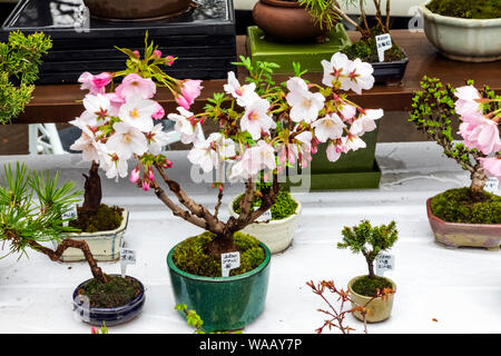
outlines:
M205 246L216 237L215 234L204 233L187 238L179 244L173 254L173 261L183 271L196 276L220 277L220 260L205 254ZM229 276L238 276L257 268L265 259L265 251L259 240L249 235L235 233L235 245L240 251L240 267L232 269Z

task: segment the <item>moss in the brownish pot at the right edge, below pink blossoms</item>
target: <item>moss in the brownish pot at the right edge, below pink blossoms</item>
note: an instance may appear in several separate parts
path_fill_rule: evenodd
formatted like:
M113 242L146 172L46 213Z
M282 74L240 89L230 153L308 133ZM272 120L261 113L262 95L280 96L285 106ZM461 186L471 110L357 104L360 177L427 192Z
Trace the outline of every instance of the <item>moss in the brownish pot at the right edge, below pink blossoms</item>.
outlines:
M501 197L485 192L485 200L473 202L469 188L446 190L431 201L433 215L449 222L501 224Z

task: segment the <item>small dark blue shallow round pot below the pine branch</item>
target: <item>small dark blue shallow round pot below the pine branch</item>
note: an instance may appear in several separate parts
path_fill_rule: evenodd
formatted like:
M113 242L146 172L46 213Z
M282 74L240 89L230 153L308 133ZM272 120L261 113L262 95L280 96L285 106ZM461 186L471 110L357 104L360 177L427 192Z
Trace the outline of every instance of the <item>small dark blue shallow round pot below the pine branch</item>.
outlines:
M118 276L118 275L111 275ZM89 308L88 305L84 300L78 297L78 290L89 280L80 284L73 291L73 313L85 323L96 326L102 326L102 323L106 323L106 326L114 326L127 323L135 317L137 317L145 305L145 287L143 284L130 276L126 276L128 278L134 279L139 284L140 293L136 298L134 298L128 304L116 307L116 308Z

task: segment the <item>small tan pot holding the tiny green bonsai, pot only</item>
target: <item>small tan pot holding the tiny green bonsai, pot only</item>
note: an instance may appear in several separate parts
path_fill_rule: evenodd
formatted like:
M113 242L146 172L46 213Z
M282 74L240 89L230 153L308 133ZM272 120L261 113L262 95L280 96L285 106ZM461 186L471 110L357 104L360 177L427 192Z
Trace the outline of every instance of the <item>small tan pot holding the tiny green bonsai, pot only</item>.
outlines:
M371 300L371 297L360 295L360 294L355 293L352 288L355 280L357 280L358 278L362 278L362 277L365 277L365 276L357 276L357 277L353 278L352 280L350 280L348 290L350 290L350 297L352 298L353 301L356 303L356 305L365 306L367 304L367 301ZM384 277L384 278L386 278L386 277ZM396 291L395 283L393 280L391 280L390 278L386 278L386 279L392 283L392 288L393 288L393 290ZM377 299L374 299L371 303L369 303L369 305L366 307L372 310L372 315L367 314L365 316L366 322L367 323L379 323L379 322L386 320L390 317L390 315L392 314L393 298L394 298L394 294L391 294L387 296L386 299L377 298ZM352 306L355 307L354 304L352 304ZM353 315L357 319L363 322L363 317L360 312L355 312L355 313L353 313Z

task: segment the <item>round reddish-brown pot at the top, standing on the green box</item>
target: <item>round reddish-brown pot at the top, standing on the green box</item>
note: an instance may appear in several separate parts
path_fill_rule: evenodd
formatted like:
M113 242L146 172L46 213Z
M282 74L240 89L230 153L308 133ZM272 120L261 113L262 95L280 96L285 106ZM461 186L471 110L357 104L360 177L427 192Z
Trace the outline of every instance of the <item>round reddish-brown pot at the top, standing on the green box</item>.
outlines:
M282 40L305 40L325 33L320 24L296 1L259 0L253 18L266 34Z

